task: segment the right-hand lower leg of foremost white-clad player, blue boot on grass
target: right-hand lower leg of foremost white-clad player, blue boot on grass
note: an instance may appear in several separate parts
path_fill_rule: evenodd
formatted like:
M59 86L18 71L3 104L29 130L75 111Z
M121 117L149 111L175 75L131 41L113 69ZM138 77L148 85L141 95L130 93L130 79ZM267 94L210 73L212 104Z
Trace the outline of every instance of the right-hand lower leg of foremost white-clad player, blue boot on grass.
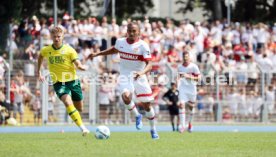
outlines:
M158 133L156 131L156 126L155 126L156 121L155 121L154 109L151 106L150 102L143 102L142 105L145 110L145 116L149 120L151 137L152 139L159 139Z

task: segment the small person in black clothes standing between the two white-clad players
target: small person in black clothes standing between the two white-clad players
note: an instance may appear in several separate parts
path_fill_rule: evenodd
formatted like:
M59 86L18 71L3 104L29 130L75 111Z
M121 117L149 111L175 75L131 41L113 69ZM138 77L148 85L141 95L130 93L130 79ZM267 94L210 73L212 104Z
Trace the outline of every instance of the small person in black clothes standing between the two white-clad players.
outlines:
M170 120L173 131L179 131L179 108L178 108L178 96L179 91L177 90L176 83L171 83L171 89L169 89L163 96L166 101L170 113ZM177 117L177 125L175 128L174 118Z

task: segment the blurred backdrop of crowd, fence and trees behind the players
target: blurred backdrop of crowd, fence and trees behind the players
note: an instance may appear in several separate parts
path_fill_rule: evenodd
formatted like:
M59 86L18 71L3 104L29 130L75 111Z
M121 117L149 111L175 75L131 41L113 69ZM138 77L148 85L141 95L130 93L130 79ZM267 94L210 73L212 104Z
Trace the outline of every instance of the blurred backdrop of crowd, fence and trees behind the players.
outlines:
M0 124L71 123L50 81L42 84L35 76L39 50L51 44L49 30L54 25L64 28L64 43L90 67L78 73L84 121L132 123L117 91L120 57L87 59L124 37L131 21L139 23L141 38L152 52L154 66L148 77L158 122L169 123L163 95L184 51L190 52L203 76L196 122L276 121L275 0L2 0ZM45 75L46 67L45 63Z

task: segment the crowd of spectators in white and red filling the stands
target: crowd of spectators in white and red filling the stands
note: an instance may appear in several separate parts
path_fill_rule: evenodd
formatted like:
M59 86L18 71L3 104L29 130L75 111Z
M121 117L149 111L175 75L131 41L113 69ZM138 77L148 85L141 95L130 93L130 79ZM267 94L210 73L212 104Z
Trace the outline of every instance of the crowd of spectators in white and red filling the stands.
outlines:
M106 110L105 121L109 122L114 108L120 108L118 107L120 97L114 81L118 77L120 56L115 54L110 58L97 57L93 60L88 59L88 56L114 45L117 38L124 37L130 21L132 19L129 18L117 23L116 19L108 21L106 17L101 20L94 17L81 20L73 19L67 14L58 20L58 25L66 32L65 43L74 47L79 53L80 60L102 76L104 81L99 87L98 98L100 106ZM50 28L53 22L53 18L38 19L33 16L31 19L24 19L19 25L13 24L14 58L35 61L41 46L51 44ZM141 29L141 39L150 45L152 72L157 75L157 79L153 79L152 82L156 111L159 107L162 109L166 106L165 101L162 100L162 95L168 90L170 84L164 83L166 82L164 75L167 75L166 65L176 71L178 64L182 63L181 54L188 51L192 61L200 66L202 75L209 77L202 81L198 88L199 116L214 114L217 98L213 92L215 87L208 86L208 81L223 75L228 83L227 88L219 90L219 99L226 102L223 117L226 120L258 118L263 104L260 94L260 72L269 72L265 75L267 85L265 101L269 104L269 113L275 113L276 80L273 72L276 71L276 24L239 22L227 24L225 21L191 22L185 19L180 21L179 25L175 25L169 18L165 22L150 21L148 18L137 22ZM1 82L4 81L5 68L2 60L5 58L6 56L0 57ZM25 97L39 94L36 91L27 90L30 93L24 96L25 92L20 92L25 91L20 88L30 89L24 79L20 79L22 75L19 72L12 78L11 87L16 99L10 102L16 106L13 111L14 113L18 111L20 117L23 115L21 107L24 106ZM83 83L84 90L87 90L86 81L83 80ZM0 83L0 86L4 89L3 83ZM37 106L33 108L37 109Z

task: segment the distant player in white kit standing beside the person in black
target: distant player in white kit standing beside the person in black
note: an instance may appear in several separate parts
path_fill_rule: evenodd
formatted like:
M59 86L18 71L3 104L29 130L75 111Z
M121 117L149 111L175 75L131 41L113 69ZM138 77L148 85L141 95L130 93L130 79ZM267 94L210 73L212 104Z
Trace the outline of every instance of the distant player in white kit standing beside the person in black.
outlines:
M188 131L192 132L193 108L197 95L197 82L200 79L200 71L195 63L190 61L189 52L183 52L183 64L178 67L178 90L179 90L179 132L185 130L185 105L190 111Z

